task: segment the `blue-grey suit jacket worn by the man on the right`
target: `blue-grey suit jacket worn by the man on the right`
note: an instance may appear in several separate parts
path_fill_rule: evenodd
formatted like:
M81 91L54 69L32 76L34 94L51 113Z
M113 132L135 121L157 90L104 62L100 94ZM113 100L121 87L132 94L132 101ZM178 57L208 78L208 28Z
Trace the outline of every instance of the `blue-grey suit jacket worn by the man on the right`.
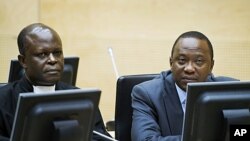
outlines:
M210 75L207 81L230 81ZM183 110L171 71L136 85L132 90L132 141L180 141Z

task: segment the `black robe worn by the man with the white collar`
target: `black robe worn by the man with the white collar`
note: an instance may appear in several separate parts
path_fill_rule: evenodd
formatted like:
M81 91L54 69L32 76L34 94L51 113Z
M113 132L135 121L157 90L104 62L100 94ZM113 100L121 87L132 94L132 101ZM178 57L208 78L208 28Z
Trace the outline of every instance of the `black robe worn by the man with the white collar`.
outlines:
M67 90L78 88L62 82L58 82L55 89ZM25 92L33 92L33 87L31 83L26 79L26 77L23 77L18 81L7 84L0 88L0 141L9 141L12 125L14 122L18 95ZM94 130L110 136L105 130L105 126L99 109L97 111L95 120ZM105 139L93 134L93 140L102 141Z

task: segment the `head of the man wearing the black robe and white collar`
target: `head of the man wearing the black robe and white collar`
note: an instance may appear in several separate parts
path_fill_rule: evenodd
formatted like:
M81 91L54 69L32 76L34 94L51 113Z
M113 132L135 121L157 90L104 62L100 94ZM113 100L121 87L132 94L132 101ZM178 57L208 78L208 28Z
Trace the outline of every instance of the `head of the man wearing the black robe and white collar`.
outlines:
M62 42L55 30L42 23L26 26L18 35L18 60L32 85L51 86L64 67Z

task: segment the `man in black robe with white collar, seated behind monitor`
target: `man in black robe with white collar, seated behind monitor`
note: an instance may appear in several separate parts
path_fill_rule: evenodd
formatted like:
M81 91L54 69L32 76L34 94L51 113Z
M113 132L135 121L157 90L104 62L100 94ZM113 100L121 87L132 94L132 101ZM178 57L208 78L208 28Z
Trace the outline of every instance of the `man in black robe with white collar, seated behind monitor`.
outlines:
M22 79L0 89L0 140L8 141L16 111L17 99L25 92L53 92L77 89L59 82L64 67L62 42L55 30L42 23L25 27L18 35L18 60L25 70ZM94 130L110 136L98 109ZM93 135L93 140L105 140Z

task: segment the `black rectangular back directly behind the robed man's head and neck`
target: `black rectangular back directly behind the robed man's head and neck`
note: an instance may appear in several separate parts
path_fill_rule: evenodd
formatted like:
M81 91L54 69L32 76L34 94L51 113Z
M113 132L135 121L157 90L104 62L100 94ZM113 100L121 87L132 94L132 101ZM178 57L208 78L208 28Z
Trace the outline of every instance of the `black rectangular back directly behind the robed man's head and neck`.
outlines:
M64 58L64 70L61 78L62 82L75 86L79 60L80 58L75 56ZM24 74L24 69L22 68L18 60L17 59L11 60L8 82L10 83L19 80L20 78L22 78L23 74Z

